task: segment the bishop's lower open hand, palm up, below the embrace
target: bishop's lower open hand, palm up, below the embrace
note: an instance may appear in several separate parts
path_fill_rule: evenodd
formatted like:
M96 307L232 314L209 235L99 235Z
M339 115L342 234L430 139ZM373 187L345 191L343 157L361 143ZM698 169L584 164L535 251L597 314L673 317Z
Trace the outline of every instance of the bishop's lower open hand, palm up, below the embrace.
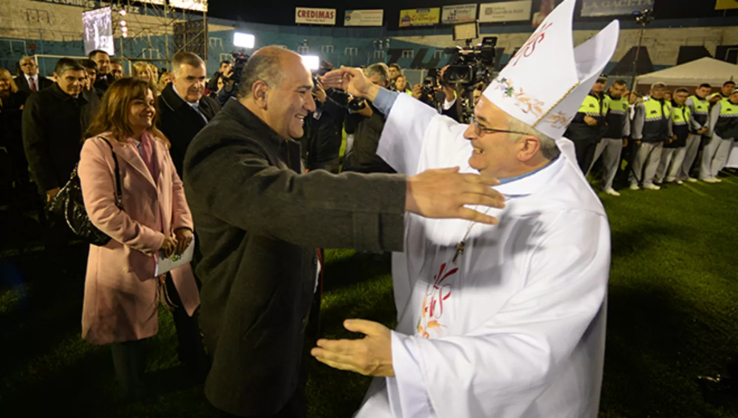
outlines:
M365 376L392 377L392 332L384 325L365 319L347 319L346 330L365 335L359 340L317 341L310 354L334 369L348 370Z

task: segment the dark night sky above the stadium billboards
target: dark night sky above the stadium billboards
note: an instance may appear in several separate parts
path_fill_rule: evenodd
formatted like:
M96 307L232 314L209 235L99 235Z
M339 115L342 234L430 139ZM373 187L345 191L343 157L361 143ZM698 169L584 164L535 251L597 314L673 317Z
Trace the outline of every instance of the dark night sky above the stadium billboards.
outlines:
M484 3L494 0L477 0ZM345 9L384 9L384 21L389 29L397 28L396 16L399 10L413 7L439 7L444 4L474 3L474 0L210 0L208 15L216 18L227 18L265 24L294 24L294 7L329 7L337 9L337 23L340 25ZM534 0L534 8L537 1ZM581 1L579 1L581 3ZM720 17L722 11L714 10L714 0L656 0L655 15L659 19L666 18L708 18ZM576 13L578 16L579 13ZM738 10L728 11L728 16L738 15ZM598 18L577 18L577 20L596 20ZM602 20L599 18L599 20ZM607 20L607 18L605 18Z

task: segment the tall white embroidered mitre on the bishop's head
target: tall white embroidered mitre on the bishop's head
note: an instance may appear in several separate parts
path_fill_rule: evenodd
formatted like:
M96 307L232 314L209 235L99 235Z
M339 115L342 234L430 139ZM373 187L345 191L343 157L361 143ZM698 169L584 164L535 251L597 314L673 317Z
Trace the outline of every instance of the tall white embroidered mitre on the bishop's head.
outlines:
M554 139L563 136L618 45L620 24L612 21L575 49L575 4L559 4L484 91L498 108Z

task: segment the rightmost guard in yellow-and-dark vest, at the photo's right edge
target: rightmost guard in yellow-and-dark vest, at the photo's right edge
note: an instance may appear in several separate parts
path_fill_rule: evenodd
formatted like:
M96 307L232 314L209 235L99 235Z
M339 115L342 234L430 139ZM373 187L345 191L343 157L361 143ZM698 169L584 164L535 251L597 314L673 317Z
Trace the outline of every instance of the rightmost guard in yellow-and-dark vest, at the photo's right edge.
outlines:
M700 180L720 183L722 180L716 177L717 173L723 170L733 139L738 138L738 90L712 107L708 136L710 142L702 151Z

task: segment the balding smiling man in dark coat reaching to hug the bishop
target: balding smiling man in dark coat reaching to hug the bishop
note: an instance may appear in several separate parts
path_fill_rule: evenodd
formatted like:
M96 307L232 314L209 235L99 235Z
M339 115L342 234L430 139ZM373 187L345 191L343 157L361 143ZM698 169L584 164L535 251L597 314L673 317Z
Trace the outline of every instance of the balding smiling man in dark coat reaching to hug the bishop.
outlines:
M205 395L226 415L306 416L303 341L318 247L401 251L406 210L483 219L463 204L501 206L485 187L494 181L455 170L303 173L292 138L315 109L312 88L300 55L260 49L244 66L239 99L195 136L184 159L201 240L200 324L213 356Z

